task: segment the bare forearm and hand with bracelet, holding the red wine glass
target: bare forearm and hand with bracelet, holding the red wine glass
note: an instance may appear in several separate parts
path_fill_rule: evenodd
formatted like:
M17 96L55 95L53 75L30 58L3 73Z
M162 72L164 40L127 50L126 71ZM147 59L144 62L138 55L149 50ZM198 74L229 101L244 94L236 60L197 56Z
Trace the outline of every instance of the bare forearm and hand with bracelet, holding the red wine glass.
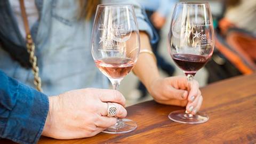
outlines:
M140 31L140 47L151 50L148 35L143 31ZM186 109L191 114L195 114L202 105L203 97L198 83L192 82L191 91L188 95L187 78L185 76L161 78L156 61L151 54L139 55L133 73L139 77L149 93L159 103L187 106Z

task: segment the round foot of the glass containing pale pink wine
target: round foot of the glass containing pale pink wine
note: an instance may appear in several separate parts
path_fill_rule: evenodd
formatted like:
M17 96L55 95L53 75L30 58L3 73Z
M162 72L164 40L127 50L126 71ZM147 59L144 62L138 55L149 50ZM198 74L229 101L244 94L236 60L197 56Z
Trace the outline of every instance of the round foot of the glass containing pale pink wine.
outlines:
M119 119L119 124L108 127L103 132L111 134L120 134L134 131L137 128L137 124L130 119Z

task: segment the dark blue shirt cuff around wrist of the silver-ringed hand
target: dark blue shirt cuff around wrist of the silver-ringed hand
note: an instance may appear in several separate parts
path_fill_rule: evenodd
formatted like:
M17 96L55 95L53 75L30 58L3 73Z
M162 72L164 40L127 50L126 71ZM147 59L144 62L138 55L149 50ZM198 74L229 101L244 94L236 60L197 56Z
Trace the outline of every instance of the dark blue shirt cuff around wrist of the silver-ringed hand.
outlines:
M37 143L49 111L49 99L41 92L19 83L17 101L10 111L1 138L18 143Z

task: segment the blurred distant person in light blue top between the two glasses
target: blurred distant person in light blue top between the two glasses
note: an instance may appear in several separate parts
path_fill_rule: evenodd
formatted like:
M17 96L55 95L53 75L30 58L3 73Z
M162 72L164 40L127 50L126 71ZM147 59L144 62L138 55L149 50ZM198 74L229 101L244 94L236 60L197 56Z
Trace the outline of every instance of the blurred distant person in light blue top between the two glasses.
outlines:
M161 39L160 31L162 27L165 25L166 18L168 14L170 14L171 8L175 4L175 0L139 0L138 1L143 7L145 7L147 17L150 19L150 22L153 24L156 35ZM154 54L157 59L157 66L161 68L165 73L169 76L172 76L174 73L174 67L167 62L162 55L158 52L159 41L151 43ZM147 95L146 87L139 82L138 89L141 92L141 97L145 97Z

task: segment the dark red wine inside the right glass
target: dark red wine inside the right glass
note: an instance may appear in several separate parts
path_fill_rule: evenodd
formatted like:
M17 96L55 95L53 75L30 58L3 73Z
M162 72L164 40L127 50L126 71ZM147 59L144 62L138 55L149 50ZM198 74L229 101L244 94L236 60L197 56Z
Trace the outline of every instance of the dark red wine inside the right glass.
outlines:
M173 54L172 59L185 71L186 75L195 75L196 71L201 69L208 61L203 55L194 54Z

